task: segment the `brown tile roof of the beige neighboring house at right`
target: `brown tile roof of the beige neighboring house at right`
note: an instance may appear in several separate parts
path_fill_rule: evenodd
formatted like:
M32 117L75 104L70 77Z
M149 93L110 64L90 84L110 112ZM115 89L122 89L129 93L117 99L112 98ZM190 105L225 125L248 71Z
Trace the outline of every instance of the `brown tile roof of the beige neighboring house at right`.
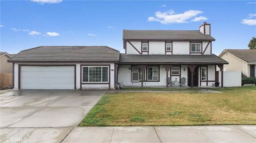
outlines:
M227 51L232 55L246 61L247 63L256 63L256 49L225 49L220 53L219 57Z

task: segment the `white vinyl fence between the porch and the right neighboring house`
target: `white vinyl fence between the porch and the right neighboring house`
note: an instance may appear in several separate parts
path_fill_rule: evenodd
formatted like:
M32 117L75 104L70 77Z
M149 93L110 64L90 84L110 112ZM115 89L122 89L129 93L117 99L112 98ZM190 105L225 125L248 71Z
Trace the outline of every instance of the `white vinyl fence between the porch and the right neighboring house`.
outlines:
M221 72L219 71L219 82L221 83ZM242 71L224 71L223 87L242 86Z

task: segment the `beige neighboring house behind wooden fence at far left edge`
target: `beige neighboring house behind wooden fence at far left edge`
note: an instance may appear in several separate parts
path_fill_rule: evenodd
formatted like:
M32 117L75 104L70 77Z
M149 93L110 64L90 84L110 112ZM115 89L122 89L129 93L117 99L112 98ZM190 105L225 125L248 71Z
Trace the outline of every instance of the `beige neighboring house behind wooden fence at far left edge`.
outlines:
M8 54L7 52L0 52L0 73L12 73L12 64L7 61L14 55Z

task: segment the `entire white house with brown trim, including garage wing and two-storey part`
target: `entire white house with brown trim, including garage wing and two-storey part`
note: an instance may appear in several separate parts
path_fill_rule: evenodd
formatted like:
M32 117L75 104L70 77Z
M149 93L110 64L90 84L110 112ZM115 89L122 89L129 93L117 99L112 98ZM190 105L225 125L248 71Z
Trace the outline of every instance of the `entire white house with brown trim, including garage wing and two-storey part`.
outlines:
M222 71L228 64L212 54L212 41L206 22L200 30L124 30L125 54L107 46L42 46L8 62L14 89L115 89L116 81L168 87L169 77L175 83L186 78L186 86L212 86L216 66Z

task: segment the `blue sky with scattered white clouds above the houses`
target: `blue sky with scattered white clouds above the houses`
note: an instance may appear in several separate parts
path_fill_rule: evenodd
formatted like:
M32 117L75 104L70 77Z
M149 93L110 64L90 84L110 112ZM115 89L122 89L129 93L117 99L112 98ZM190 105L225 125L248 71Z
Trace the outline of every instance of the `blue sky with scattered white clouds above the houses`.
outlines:
M107 45L124 53L122 30L199 30L211 24L212 53L248 49L256 1L0 0L0 51Z

